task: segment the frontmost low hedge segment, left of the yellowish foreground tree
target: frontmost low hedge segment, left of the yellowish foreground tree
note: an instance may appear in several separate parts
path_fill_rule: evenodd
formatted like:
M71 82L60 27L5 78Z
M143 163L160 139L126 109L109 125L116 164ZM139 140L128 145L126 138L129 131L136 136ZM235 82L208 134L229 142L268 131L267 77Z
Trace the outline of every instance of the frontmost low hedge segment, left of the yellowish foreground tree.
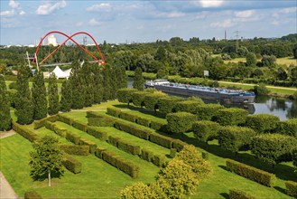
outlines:
M120 156L116 156L113 153L103 151L102 159L112 166L115 166L119 170L125 172L127 175L137 177L139 175L139 167L135 166L130 161L122 159Z

